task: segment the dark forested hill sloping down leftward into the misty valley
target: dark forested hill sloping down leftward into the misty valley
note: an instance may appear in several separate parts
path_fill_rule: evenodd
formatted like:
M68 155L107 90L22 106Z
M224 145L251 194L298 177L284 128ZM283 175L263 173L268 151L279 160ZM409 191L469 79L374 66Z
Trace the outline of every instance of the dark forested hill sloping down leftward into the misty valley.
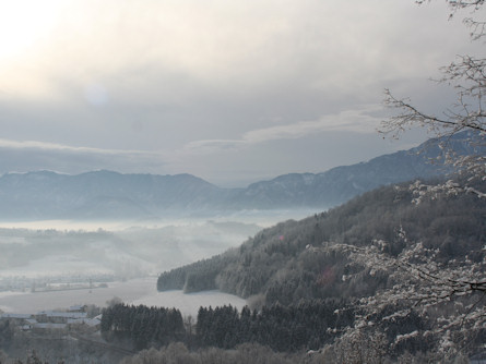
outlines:
M412 199L407 184L365 193L327 213L262 230L239 248L163 272L157 288L186 292L220 289L241 298L253 296L260 304L371 295L387 284L387 277L364 270L343 281L343 275L351 272L346 256L321 247L333 243L363 246L382 239L389 243L389 252L398 254L405 247L398 236L400 228L408 241L439 248L441 259L465 252L473 259L483 256L484 199L466 194L418 205Z

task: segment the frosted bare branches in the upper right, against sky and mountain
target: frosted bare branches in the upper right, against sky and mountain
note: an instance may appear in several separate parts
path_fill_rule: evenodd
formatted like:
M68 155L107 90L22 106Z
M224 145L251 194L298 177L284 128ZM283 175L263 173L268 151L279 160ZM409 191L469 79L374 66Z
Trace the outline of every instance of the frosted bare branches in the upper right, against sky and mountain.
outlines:
M425 0L417 0L424 3ZM484 49L486 21L484 16L484 0L447 0L450 16L466 14L463 22L471 31L471 38L478 45L478 52ZM427 185L417 182L416 194L419 202L425 195L438 193L473 193L486 197L485 191L474 186L475 181L486 180L486 59L482 56L458 56L450 64L440 69L442 76L438 83L452 87L457 101L441 114L432 114L419 110L410 98L396 98L386 89L384 105L392 109L393 114L381 123L380 132L393 138L416 126L426 129L432 136L442 137L444 161L455 168L462 177L460 183L453 180L440 185ZM448 148L449 137L463 131L470 131L470 153L455 155ZM471 150L475 150L472 151Z

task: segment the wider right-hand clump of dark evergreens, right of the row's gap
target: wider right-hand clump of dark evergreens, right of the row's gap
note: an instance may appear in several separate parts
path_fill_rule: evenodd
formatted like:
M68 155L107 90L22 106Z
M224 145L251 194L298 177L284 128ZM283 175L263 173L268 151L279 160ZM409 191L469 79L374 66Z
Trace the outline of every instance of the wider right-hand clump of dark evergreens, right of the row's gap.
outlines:
M232 306L201 307L195 326L202 347L232 349L246 342L268 345L275 351L317 350L334 335L352 325L351 310L337 310L342 302L308 301L298 305L264 306L260 312Z

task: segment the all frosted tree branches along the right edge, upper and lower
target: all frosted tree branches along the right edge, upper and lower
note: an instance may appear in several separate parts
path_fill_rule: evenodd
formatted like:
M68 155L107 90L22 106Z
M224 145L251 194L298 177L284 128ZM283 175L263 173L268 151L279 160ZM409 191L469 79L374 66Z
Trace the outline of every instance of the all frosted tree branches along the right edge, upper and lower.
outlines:
M464 24L471 29L471 38L478 45L478 50L483 51L481 46L484 46L486 36L486 22L481 19L484 0L446 2L450 7L450 16L466 14ZM392 116L382 122L380 132L398 138L403 132L420 126L442 139L444 161L457 173L440 184L413 183L414 203L424 198L453 198L461 193L485 198L486 59L473 54L458 56L457 60L441 68L441 72L442 77L438 82L454 88L455 104L440 116L430 114L419 110L411 99L396 98L387 89L384 105L392 109ZM455 155L449 150L448 144L454 135L464 131L469 132L471 148L467 154ZM398 227L396 239L401 239L405 246L398 255L388 253L388 242L382 240L376 240L369 246L327 244L323 247L347 252L349 266L363 268L349 271L386 274L389 277L384 289L357 302L360 314L336 345L355 342L356 337L366 332L376 335L388 330L391 351L407 340L415 340L426 343L435 352L431 361L458 357L461 352L478 350L474 345L484 343L486 332L486 245L481 252L464 252L461 257L442 262L438 258L438 248L427 247L422 241L410 241L401 227ZM353 275L343 276L343 279L353 279ZM392 337L387 325L411 314L424 319L426 327Z

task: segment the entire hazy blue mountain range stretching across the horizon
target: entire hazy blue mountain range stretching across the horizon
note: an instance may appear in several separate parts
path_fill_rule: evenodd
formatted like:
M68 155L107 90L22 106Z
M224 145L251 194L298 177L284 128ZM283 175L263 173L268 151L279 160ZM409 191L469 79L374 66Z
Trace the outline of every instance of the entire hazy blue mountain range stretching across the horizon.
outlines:
M449 143L460 154L472 154L466 137L469 134L461 133ZM0 218L132 219L240 209L325 209L380 185L442 175L449 170L429 162L441 153L438 141L430 139L367 162L317 174L284 174L246 189L222 189L191 174L121 174L106 170L76 175L7 173L0 178Z

